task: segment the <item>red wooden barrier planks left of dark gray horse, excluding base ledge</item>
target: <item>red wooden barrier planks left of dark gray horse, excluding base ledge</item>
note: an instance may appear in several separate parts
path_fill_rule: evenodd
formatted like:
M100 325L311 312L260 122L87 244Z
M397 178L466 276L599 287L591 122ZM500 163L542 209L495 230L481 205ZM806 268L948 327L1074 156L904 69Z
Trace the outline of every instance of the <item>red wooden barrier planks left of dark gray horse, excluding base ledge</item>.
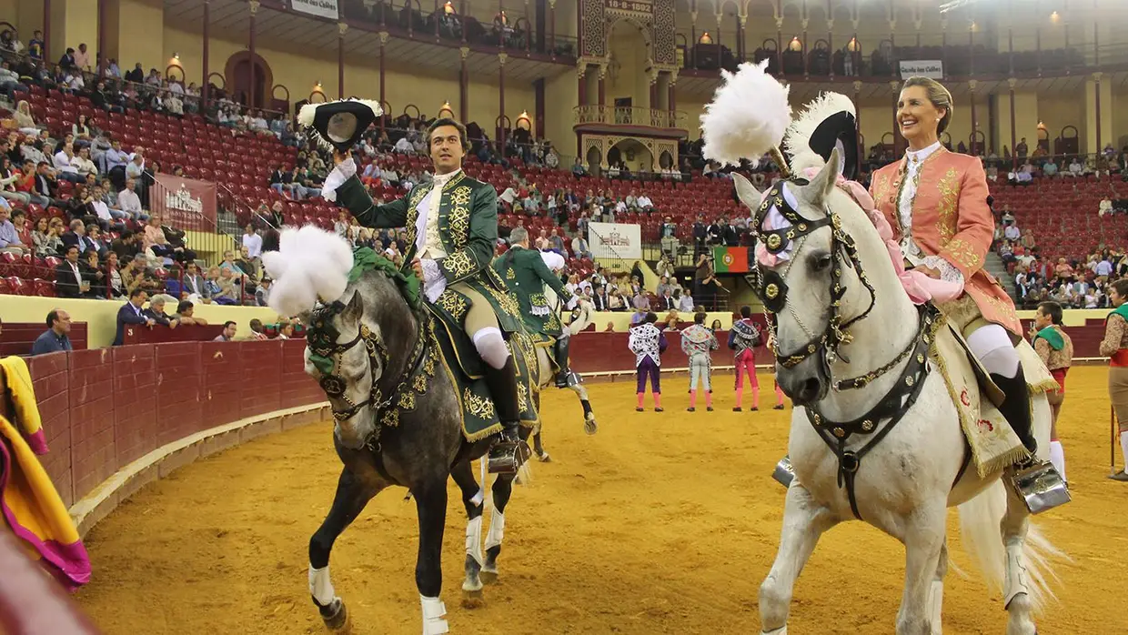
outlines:
M303 339L174 342L30 358L51 449L44 468L69 506L160 446L323 402L305 349Z

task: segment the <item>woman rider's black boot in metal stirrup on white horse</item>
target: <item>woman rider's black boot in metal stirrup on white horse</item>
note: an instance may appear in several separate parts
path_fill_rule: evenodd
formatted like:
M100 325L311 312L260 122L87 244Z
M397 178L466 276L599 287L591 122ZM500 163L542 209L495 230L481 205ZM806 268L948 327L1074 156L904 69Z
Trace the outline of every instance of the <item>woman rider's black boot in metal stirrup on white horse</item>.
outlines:
M1014 377L992 373L992 380L1003 391L1003 403L998 411L1011 424L1030 456L1016 464L1011 471L1011 486L1022 499L1031 513L1039 513L1069 502L1068 491L1061 475L1049 461L1037 457L1038 441L1034 439L1030 405L1030 387L1026 385L1022 365Z

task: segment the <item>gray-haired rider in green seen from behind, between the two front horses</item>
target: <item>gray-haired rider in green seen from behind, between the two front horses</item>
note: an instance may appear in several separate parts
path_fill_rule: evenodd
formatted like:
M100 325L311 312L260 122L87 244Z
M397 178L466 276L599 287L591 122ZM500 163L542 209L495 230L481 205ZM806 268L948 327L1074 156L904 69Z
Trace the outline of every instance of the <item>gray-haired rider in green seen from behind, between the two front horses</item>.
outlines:
M527 229L514 228L509 235L509 241L512 248L494 261L494 268L517 294L526 328L555 338L556 387L567 388L571 376L567 363L570 337L563 329L556 307L549 306L545 297L545 286L556 292L562 306L567 306L575 296L564 286L558 275L549 271L540 252L529 248Z

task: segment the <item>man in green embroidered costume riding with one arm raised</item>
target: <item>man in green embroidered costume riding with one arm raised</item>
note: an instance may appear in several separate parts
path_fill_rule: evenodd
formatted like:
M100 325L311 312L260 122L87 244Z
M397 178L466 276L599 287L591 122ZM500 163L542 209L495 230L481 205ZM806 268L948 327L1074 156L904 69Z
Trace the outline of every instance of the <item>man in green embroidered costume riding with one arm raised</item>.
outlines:
M469 150L466 126L452 118L435 120L426 139L434 179L416 185L403 199L373 204L356 178L350 152L335 153L334 173L341 174L331 175L326 186L343 177L335 199L360 224L406 229L406 257L414 256L412 268L423 281L424 296L462 325L485 362L485 382L503 426L490 450L490 469L515 471L529 449L518 436L517 371L503 335L520 328L519 308L490 267L497 242L497 193L462 171L462 157Z

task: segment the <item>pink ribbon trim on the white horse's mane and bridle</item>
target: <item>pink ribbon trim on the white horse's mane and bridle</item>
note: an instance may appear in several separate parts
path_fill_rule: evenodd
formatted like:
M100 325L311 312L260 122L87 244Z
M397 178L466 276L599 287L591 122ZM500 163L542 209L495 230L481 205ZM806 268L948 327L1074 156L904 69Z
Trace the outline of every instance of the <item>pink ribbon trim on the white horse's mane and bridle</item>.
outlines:
M813 178L818 175L819 170L811 168L807 170L808 178ZM925 275L918 271L909 270L905 271L905 256L901 254L900 245L893 239L893 229L889 226L889 221L885 217L878 211L876 205L873 202L873 197L866 192L865 187L856 180L846 180L846 178L838 177L838 186L846 191L847 194L854 197L854 201L865 211L865 215L870 218L870 222L873 223L874 229L878 230L878 236L885 244L885 249L889 250L889 259L893 265L893 271L897 272L897 279L900 280L901 286L905 292L909 294L909 299L913 300L915 305L923 305L928 300L935 300L937 302L949 302L960 297L963 293L963 284L959 282L945 282L943 280L937 280ZM765 194L766 196L767 194ZM763 199L761 199L763 201ZM764 219L763 230L773 231L776 229L783 229L788 227L790 223L783 214L777 212L775 208L768 211L767 217ZM781 262L788 259L790 256L787 250L779 254L772 254L767 250L763 242L756 245L756 259L766 267L774 267Z

